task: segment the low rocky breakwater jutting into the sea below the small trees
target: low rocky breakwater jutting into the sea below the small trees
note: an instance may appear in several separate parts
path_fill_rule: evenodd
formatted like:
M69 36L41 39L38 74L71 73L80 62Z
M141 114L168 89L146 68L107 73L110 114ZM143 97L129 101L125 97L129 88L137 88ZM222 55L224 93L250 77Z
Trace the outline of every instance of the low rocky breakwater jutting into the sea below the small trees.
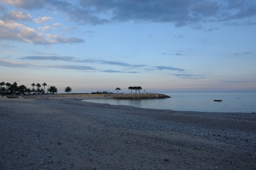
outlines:
M164 99L170 96L159 93L125 93L125 94L111 94L114 99Z

